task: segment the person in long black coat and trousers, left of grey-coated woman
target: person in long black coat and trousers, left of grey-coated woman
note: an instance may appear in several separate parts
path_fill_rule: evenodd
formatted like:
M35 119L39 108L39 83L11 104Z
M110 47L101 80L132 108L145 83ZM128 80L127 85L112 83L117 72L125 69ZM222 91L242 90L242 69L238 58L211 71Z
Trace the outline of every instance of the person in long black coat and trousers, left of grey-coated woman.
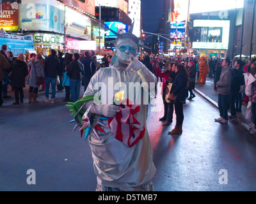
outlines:
M17 59L12 62L10 71L12 71L12 87L15 93L13 105L20 105L20 103L23 103L23 88L26 87L25 78L28 75L28 64L24 54L19 54Z

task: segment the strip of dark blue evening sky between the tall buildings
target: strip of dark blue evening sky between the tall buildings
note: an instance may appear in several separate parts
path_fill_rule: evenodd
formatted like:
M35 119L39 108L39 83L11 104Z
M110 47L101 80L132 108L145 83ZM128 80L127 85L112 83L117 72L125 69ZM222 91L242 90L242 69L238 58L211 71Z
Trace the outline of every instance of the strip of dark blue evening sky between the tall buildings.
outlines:
M143 13L143 30L154 33L158 27L159 18L163 17L163 0L141 0L141 12Z

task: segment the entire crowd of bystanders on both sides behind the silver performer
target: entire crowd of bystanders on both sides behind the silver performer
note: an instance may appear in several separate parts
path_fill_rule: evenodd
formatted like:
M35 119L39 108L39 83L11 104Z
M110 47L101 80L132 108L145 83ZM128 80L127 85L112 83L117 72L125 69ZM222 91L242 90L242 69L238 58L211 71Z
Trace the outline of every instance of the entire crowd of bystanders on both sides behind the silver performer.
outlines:
M7 46L2 45L0 51L0 106L3 99L8 96L8 85L15 92L13 105L20 105L24 101L23 88L29 85L29 103L39 103L38 89L45 93L44 101L49 100L51 92L51 103L55 103L57 92L65 90L63 101L75 102L80 98L81 85L86 91L90 79L97 71L97 59L95 52L90 50L83 54L65 55L62 52L51 50L48 57L41 54L30 54L29 61L24 54L16 59L12 52L6 52ZM64 55L64 56L63 56ZM111 55L102 58L102 67L111 67ZM44 59L45 58L45 59ZM251 96L245 94L246 82L244 73L256 77L256 62L241 59L207 59L207 57L186 57L183 59L175 57L154 58L149 55L138 57L138 59L151 71L158 80L163 82L161 90L164 103L164 115L161 119L163 126L169 126L173 122L173 110L177 115L175 129L170 134L181 134L184 120L183 104L186 99L195 98L195 84L205 84L207 77L214 77L214 91L218 91L218 106L220 117L216 122L227 124L237 119L237 112L241 112L241 106L252 106L251 115L253 124L250 125L252 134L256 133L256 82L250 86ZM10 87L9 85L9 87ZM51 89L51 90L50 90ZM228 116L228 109L230 115Z

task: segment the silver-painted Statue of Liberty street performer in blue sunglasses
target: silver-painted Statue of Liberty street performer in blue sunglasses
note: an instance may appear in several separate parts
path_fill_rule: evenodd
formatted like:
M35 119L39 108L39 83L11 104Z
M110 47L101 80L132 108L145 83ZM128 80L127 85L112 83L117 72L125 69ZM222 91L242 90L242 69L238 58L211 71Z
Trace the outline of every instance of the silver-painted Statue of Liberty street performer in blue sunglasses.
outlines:
M97 176L96 191L154 190L156 167L147 131L147 111L148 101L156 94L157 79L135 58L139 40L131 32L117 34L112 66L99 69L84 92L83 99L93 96L93 100L84 103L84 110L108 118L88 136ZM134 90L138 85L140 89Z

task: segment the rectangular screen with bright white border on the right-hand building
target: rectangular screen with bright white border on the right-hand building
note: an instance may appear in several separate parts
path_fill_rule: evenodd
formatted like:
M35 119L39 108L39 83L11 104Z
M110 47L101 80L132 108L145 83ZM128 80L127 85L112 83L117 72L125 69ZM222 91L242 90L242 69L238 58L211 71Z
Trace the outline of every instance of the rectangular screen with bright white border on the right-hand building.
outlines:
M193 49L228 49L229 20L194 20L193 26L198 27L200 34L193 42Z

